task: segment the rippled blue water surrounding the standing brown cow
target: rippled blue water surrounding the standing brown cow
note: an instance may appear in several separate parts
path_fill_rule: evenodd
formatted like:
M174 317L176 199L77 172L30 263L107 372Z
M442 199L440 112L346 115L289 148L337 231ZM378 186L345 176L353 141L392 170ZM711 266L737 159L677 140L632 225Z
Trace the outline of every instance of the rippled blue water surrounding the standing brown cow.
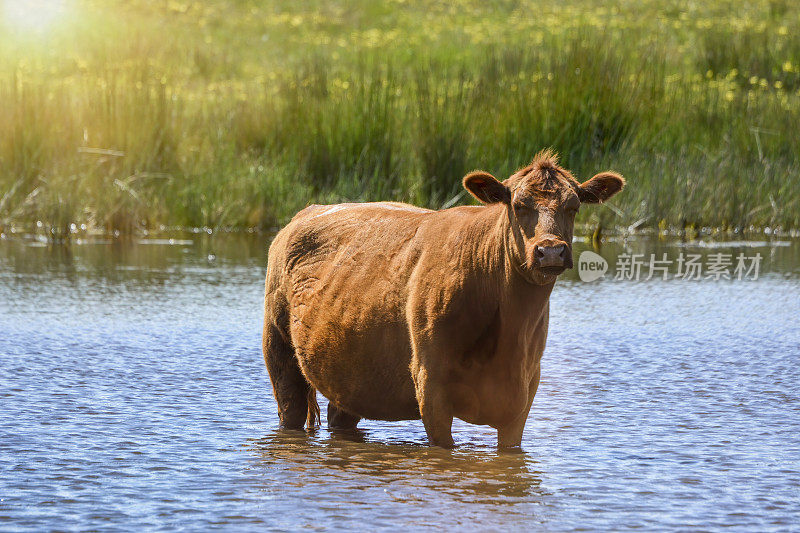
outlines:
M604 246L604 280L553 293L523 453L461 422L454 451L416 421L278 430L264 240L0 240L0 529L800 528L796 239ZM764 261L609 279L626 250Z

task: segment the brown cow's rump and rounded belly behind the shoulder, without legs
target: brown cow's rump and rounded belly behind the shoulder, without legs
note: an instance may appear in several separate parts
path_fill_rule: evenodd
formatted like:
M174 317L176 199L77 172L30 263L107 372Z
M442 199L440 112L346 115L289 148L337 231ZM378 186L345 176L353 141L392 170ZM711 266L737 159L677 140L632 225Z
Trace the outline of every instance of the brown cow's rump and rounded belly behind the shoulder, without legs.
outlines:
M285 307L272 312L286 316L306 378L351 413L419 416L405 304L424 248L417 235L432 213L398 203L310 206L270 247L267 305Z

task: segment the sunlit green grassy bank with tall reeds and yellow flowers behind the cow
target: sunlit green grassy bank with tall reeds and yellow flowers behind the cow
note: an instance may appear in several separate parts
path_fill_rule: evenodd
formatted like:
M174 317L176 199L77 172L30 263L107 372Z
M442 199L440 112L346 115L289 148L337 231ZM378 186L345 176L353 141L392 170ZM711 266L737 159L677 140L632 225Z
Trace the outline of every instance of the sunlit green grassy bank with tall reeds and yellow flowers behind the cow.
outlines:
M581 222L800 227L793 2L211 4L0 14L0 229L440 207L546 146L629 180Z

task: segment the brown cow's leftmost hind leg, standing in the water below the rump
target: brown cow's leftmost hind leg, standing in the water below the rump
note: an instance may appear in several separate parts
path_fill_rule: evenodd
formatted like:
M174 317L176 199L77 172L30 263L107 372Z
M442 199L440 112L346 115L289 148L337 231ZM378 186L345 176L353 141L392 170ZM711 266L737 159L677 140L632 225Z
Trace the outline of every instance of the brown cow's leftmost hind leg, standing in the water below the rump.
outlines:
M313 389L300 371L294 348L273 324L264 328L263 348L281 427L303 429Z

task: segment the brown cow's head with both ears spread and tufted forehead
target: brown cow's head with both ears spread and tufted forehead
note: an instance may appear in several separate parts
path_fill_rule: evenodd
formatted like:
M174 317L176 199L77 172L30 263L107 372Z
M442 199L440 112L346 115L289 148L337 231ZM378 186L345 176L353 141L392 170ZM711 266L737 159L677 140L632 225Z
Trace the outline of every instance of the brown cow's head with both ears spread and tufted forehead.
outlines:
M464 188L475 198L505 205L509 260L526 279L542 285L572 268L572 232L581 204L604 202L624 186L615 172L579 183L550 150L503 182L480 171L464 177Z

